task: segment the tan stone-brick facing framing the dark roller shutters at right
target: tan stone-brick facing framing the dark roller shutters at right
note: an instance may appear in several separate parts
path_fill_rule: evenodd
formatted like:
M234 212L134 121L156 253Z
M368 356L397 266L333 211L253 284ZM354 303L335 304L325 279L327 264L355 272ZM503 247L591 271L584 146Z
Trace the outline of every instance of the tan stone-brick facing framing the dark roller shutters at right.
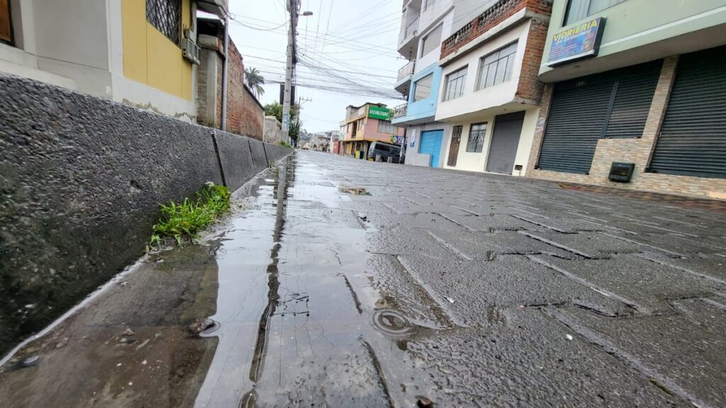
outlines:
M640 139L598 140L589 175L536 170L534 168L539 158L539 149L542 147L544 129L547 125L547 115L549 115L550 103L552 102L554 86L548 83L544 87L544 93L542 94L542 105L540 105L537 128L534 133L534 142L532 142L532 150L527 165L527 176L534 179L598 184L624 189L726 199L726 179L707 179L645 172L666 113L668 99L677 70L677 62L678 57L668 57L664 60L661 76L658 78L656 92L653 95L653 102L650 105L648 119L645 122L643 137ZM608 173L610 172L613 161L635 163L635 173L630 183L616 183L608 180Z

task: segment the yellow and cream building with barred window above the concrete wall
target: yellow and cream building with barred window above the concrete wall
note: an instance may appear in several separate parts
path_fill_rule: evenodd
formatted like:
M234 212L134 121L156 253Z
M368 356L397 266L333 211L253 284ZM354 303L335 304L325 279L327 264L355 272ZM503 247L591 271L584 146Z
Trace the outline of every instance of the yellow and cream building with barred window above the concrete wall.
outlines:
M195 121L197 8L227 0L3 0L0 72Z

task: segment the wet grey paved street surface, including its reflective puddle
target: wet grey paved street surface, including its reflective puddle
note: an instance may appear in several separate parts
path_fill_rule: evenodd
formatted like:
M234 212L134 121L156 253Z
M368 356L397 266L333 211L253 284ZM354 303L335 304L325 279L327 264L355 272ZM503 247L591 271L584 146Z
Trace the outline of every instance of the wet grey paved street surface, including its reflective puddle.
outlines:
M21 350L0 405L726 406L724 213L316 152L234 198Z

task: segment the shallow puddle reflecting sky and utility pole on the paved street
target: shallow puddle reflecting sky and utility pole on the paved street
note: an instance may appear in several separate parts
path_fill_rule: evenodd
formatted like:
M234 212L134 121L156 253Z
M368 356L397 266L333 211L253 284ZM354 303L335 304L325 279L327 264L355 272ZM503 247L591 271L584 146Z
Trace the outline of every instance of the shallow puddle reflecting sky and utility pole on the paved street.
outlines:
M219 346L195 407L392 406L379 359L395 366L414 327L375 311L350 197L295 157L246 188L217 251Z

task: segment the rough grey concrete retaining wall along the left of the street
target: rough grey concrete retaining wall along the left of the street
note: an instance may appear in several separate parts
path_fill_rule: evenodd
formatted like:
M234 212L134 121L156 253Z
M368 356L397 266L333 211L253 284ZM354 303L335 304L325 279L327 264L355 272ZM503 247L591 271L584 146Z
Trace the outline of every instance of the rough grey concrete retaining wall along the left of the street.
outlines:
M237 189L292 151L35 81L0 89L0 354L138 258L159 203Z

